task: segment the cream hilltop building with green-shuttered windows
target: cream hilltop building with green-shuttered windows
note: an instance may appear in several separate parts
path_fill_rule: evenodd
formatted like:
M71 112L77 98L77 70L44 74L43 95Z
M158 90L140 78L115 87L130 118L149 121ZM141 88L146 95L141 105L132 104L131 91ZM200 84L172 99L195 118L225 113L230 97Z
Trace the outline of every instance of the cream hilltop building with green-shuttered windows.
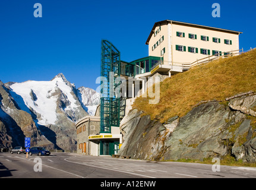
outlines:
M184 64L209 55L239 50L241 31L165 20L154 24L148 36L148 56L163 58L163 65Z

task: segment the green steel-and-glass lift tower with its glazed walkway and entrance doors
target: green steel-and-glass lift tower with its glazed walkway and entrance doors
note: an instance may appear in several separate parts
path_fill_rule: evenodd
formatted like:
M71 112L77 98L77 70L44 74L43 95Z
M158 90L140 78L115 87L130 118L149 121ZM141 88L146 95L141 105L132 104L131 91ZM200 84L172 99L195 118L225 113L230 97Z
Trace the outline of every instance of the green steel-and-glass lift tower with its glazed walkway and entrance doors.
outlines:
M126 97L121 96L120 88L122 78L127 81L135 75L150 72L161 63L161 58L148 56L132 62L121 61L121 53L108 40L102 40L101 50L100 133L111 134L111 127L119 127L125 116ZM100 155L116 154L118 150L119 141L116 138L100 140Z

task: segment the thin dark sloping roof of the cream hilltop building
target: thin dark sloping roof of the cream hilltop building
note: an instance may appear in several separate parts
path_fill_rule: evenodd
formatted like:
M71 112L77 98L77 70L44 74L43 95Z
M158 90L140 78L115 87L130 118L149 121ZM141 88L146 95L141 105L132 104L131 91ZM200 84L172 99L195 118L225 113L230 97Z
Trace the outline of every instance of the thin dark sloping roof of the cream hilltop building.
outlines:
M226 29L219 29L216 27L210 27L210 26L203 26L203 25L199 25L199 24L191 24L191 23L184 23L184 22L180 22L180 21L174 21L174 20L163 20L163 21L159 21L157 23L154 23L153 29L150 31L150 34L147 38L147 42L146 45L148 45L148 42L150 40L150 37L152 36L152 34L154 34L154 29L157 26L161 26L163 24L169 24L169 23L173 23L173 24L179 24L179 25L183 25L183 26L191 26L191 27L197 27L197 28L201 28L201 29L209 29L209 30L216 30L216 31L223 31L226 33L232 33L232 34L242 34L241 31L234 31L234 30L226 30Z

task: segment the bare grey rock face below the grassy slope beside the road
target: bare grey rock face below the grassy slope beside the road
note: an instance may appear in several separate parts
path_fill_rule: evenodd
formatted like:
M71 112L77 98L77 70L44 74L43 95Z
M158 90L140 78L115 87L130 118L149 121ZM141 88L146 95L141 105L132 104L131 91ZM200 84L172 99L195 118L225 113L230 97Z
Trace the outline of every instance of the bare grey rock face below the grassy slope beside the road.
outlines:
M119 155L132 159L179 160L227 155L256 162L256 95L206 102L165 123L130 110L121 121L124 144Z

